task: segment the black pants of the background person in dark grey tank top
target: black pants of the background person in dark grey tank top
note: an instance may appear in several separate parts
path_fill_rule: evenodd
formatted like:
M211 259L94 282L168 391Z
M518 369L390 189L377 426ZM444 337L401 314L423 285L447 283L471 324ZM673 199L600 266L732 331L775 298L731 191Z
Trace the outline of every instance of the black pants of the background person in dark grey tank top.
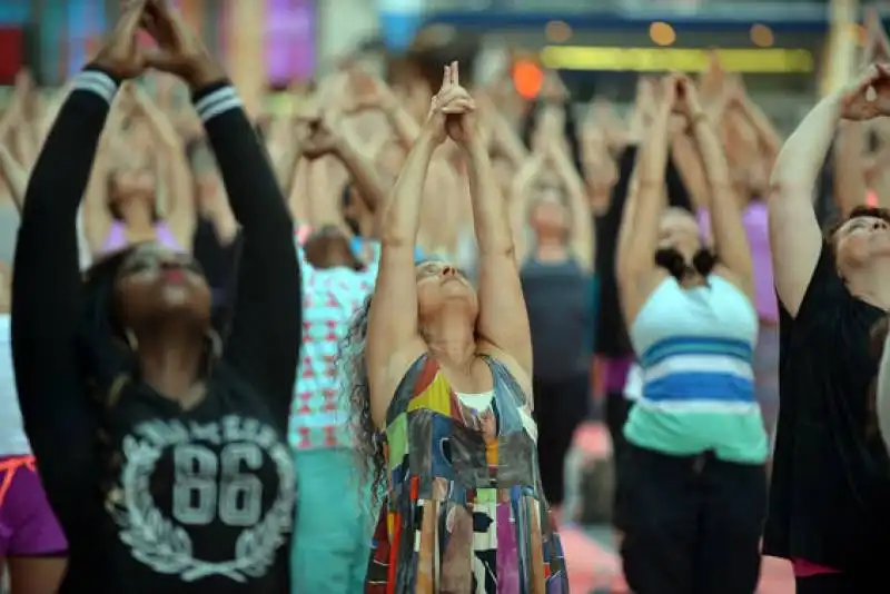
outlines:
M565 497L565 455L572 446L575 428L587 416L590 376L578 374L564 379L533 379L537 459L541 483L551 505L562 505Z

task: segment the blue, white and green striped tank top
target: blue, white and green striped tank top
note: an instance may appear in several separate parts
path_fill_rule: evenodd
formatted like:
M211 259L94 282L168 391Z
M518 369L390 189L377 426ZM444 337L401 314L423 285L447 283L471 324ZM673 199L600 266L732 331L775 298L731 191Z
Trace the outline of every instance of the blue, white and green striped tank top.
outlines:
M748 297L720 276L692 288L665 278L630 328L642 392L627 439L665 454L712 449L730 462L763 462L752 369L758 325Z

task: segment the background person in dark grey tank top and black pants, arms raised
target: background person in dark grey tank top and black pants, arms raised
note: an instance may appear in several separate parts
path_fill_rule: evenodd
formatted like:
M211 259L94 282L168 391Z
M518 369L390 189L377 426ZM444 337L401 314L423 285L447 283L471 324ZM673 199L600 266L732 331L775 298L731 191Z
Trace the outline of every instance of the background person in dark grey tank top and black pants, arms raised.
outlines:
M528 219L517 221L514 241L536 363L541 478L558 516L565 455L591 402L593 221L583 181L564 148L547 138L542 151L531 157L528 178L523 179L525 172L517 178L520 196L511 202L514 218ZM546 175L550 170L556 172L554 178Z

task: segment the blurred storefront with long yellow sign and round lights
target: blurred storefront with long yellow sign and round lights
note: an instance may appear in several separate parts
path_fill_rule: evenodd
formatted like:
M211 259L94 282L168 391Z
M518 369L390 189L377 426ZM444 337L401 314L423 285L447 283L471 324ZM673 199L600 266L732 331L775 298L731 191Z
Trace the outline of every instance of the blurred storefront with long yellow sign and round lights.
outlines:
M792 118L819 89L830 30L828 0L428 0L426 8L425 24L481 32L488 48L560 70L581 101L627 102L641 73L701 71L709 49L720 48L726 69Z

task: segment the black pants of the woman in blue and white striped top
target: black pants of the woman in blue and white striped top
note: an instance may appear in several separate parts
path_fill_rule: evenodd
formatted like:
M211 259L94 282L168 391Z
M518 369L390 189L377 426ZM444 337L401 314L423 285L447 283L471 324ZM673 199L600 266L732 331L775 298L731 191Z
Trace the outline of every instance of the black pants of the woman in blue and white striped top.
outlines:
M760 576L767 475L711 453L627 445L622 558L635 594L752 594Z

